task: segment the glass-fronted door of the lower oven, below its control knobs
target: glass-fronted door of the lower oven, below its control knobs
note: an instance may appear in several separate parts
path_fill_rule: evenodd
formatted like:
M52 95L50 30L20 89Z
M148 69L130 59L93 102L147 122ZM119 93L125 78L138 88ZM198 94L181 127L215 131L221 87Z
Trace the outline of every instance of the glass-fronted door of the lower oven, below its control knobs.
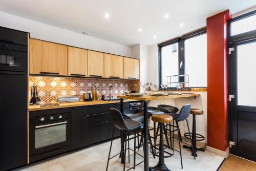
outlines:
M70 145L70 119L30 125L29 155Z

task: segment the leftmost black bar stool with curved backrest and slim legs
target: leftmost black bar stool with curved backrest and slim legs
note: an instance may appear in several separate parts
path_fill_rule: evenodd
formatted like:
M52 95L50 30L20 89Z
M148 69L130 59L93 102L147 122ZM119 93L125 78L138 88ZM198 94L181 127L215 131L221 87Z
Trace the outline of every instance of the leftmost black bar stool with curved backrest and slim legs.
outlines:
M133 167L129 168L129 170L132 169L132 168L135 169L135 166L137 166L137 165L139 165L140 163L143 162L142 161L142 162L136 164L136 154L138 154L138 153L136 153L136 137L138 137L138 136L136 136L136 130L138 132L138 130L141 129L142 123L138 122L138 121L135 121L133 119L124 119L121 112L118 111L117 109L113 109L113 108L110 109L110 120L114 124L114 129L113 129L113 132L112 132L112 139L111 139L111 144L110 144L108 164L106 165L106 171L108 171L110 159L116 157L117 155L120 155L123 152L124 152L123 171L125 170L125 158L126 158L126 149L127 149L126 148L126 143L127 143L127 140L128 141L130 140L129 138L127 139L127 136L129 135L129 132L131 132L131 131L134 131L134 149L131 149L130 146L129 146L128 149L129 150L131 149L134 152L134 163L133 163ZM124 136L124 141L125 141L124 151L114 155L113 157L110 157L115 129L118 129L118 130L122 131L125 135ZM138 154L138 155L141 156L140 154ZM143 157L143 156L141 156L141 157ZM130 156L129 156L129 162L130 162Z

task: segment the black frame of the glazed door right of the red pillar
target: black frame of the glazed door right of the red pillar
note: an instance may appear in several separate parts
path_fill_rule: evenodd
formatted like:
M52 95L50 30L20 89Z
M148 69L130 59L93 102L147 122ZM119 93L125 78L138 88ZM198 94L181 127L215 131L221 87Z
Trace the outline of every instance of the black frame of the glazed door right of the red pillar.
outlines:
M255 156L245 154L244 152L238 150L237 110L243 108L244 106L239 106L239 108L237 107L237 47L239 45L256 42L256 30L231 36L231 23L255 14L256 10L232 18L228 21L227 25L227 52L229 51L229 48L234 48L234 51L231 51L231 54L227 55L228 95L234 95L234 98L232 98L231 101L228 101L228 140L234 142L234 145L229 147L229 152L230 154L234 154L253 161L256 161ZM236 86L234 86L233 83L236 83ZM247 111L256 112L256 107L246 106L246 108L250 108Z

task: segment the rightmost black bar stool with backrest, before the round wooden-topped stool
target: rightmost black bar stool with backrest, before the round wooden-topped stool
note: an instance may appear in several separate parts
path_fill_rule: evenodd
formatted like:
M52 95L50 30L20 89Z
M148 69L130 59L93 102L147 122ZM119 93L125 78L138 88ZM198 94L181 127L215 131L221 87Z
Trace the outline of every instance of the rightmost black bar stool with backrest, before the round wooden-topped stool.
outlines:
M182 122L182 121L186 121L186 124L187 124L187 129L188 129L188 132L190 133L190 130L189 130L189 127L188 127L188 122L187 122L187 118L189 116L189 113L190 113L190 108L191 108L191 105L190 104L185 104L182 106L179 114L175 113L175 114L169 114L170 116L173 117L173 119L175 120L176 122L176 126L177 126L177 130L174 130L174 124L173 124L173 131L169 130L170 132L173 133L173 149L174 149L174 132L178 131L178 140L179 140L179 151L174 149L175 151L179 152L180 153L180 161L181 161L181 168L183 168L183 163L182 163L182 154L181 154L181 146L180 146L180 142L181 142L181 134L180 134L180 127L179 127L179 122ZM184 142L183 142L184 143ZM193 146L192 142L191 142L191 145ZM194 157L195 158L195 157ZM196 159L196 158L195 158Z

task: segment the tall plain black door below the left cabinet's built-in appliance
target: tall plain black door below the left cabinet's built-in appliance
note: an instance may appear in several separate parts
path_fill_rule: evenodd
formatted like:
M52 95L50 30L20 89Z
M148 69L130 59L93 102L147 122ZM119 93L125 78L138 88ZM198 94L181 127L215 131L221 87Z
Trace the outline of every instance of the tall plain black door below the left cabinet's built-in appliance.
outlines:
M0 72L0 170L28 162L27 77L27 73Z

